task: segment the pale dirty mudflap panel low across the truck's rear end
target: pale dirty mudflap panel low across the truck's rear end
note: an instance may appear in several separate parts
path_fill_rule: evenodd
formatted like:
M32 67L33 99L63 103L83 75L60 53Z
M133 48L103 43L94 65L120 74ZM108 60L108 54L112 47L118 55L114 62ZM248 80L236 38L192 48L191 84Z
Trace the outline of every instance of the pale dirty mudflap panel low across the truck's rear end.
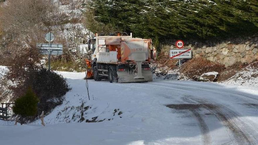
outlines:
M152 81L152 72L151 70L145 70L142 68L142 76L141 79L135 79L136 74L129 74L127 71L117 71L118 82L119 83L131 83L131 82L148 82Z

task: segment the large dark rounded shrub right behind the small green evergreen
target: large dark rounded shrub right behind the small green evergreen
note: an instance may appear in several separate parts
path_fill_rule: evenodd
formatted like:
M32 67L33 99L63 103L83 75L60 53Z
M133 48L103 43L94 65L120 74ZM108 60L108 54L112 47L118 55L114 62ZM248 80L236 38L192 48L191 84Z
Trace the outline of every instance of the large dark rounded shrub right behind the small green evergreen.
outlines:
M49 112L55 106L60 105L63 96L69 91L66 79L54 71L45 68L36 69L27 82L39 97L39 111Z

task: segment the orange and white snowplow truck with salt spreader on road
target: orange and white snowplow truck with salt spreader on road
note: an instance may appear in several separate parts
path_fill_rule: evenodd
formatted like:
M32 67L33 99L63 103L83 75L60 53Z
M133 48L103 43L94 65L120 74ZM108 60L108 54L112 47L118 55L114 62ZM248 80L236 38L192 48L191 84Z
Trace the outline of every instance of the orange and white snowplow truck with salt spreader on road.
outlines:
M86 77L95 81L107 79L110 83L152 81L149 64L156 59L156 50L151 39L130 36L98 35L89 40L92 50L87 64Z

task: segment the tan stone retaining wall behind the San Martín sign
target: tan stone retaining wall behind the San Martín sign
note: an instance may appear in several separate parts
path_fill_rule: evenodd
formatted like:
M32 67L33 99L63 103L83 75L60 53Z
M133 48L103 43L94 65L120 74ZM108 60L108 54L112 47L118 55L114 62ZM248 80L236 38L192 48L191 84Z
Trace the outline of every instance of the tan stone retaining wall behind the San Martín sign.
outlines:
M169 52L169 49L176 49L176 40L162 45L162 51ZM231 66L236 62L248 63L258 59L258 36L238 37L225 41L196 42L184 40L184 48L192 48L193 57L204 57L212 62Z

